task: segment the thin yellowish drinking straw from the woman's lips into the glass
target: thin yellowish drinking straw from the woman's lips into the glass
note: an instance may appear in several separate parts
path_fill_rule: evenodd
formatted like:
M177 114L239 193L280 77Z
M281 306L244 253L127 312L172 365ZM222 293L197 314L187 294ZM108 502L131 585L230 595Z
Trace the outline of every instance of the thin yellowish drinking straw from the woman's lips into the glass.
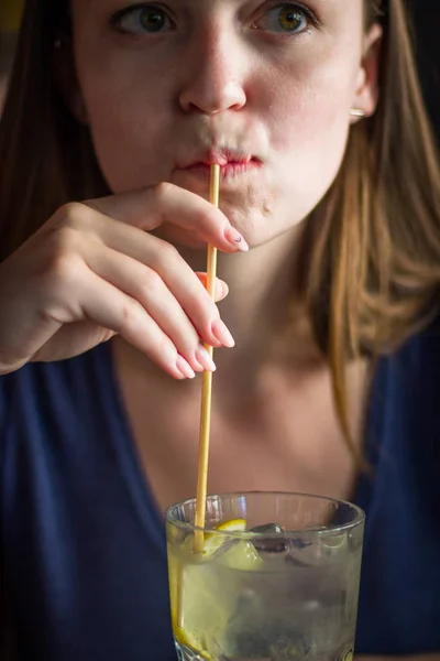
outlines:
M219 206L220 187L220 166L211 165L209 182L209 201L216 207ZM216 291L217 274L217 248L208 246L208 283L207 290L213 300ZM213 349L209 345L205 348L212 358ZM200 410L200 435L199 435L199 459L197 470L197 496L196 496L196 517L197 528L205 528L206 499L208 485L208 458L209 458L209 431L211 424L211 400L212 400L212 372L205 371L201 382L201 410ZM205 535L201 530L196 530L194 539L195 553L201 553L204 550Z

